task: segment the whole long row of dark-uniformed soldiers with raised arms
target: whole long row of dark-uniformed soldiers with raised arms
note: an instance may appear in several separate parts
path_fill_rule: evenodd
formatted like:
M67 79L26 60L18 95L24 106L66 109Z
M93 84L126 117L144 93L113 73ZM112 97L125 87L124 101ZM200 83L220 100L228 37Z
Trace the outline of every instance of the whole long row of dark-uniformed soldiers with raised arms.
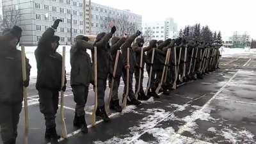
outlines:
M67 80L61 86L62 56L56 52L60 37L54 35L61 20L57 19L51 28L48 28L38 42L35 50L37 63L36 90L38 90L40 112L45 118L45 140L56 141L60 136L56 132L56 113L59 103L59 92L65 92ZM90 43L87 36L76 36L76 42L70 49L70 85L74 93L76 110L74 127L81 128L83 133L88 132L84 107L88 97L89 85L97 88L97 111L104 122L109 122L108 108L122 112L122 104L127 93L129 104L140 106L140 100L150 97L159 98L159 93L168 95L179 84L203 78L204 74L218 68L220 60L220 45L186 40L184 38L167 39L165 41L151 40L147 47L143 47L144 40L141 31L134 35L119 38L113 36L116 27L109 33L99 33L95 42ZM0 68L0 115L1 136L4 144L13 144L17 138L17 124L22 108L22 86L29 84L30 65L27 60L27 77L22 81L20 51L16 49L22 30L15 26L9 29L1 42ZM4 44L4 45L2 45ZM97 47L97 61L94 60L94 47ZM86 50L92 51L92 59ZM97 62L97 72L93 65ZM143 88L143 73L146 67L148 73L147 90ZM97 74L97 85L94 75ZM135 92L132 79L136 79ZM125 88L121 100L118 99L120 79L123 79ZM109 103L104 102L107 81L111 91ZM110 83L111 82L111 83ZM127 91L127 92L126 92ZM8 113L6 113L8 111Z

